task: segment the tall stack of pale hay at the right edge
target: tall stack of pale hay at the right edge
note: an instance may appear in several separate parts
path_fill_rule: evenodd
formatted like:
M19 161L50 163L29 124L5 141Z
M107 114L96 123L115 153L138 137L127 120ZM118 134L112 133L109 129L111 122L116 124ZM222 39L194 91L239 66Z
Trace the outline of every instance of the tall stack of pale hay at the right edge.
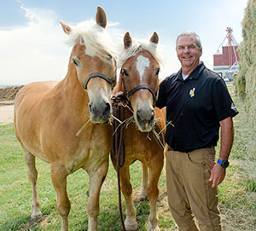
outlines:
M239 44L239 72L236 76L236 94L243 101L250 122L256 127L256 0L248 0L242 20L242 38Z

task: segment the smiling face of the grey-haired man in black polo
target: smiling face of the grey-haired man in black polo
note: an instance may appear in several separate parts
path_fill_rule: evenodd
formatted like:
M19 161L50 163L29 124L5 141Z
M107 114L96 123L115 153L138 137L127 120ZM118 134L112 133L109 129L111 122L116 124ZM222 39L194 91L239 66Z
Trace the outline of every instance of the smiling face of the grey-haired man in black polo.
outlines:
M177 40L177 58L182 68L194 69L200 62L202 49L195 43L195 36L181 36Z

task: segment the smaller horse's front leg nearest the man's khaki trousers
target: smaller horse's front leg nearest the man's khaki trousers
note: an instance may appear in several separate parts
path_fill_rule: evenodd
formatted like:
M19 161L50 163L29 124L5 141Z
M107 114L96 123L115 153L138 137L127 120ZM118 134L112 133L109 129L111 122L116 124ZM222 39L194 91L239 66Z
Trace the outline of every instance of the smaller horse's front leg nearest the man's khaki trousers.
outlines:
M163 162L163 156L155 155L155 158L151 159L151 163L149 165L149 184L147 193L150 204L150 214L148 217L148 231L160 230L157 224L157 199L159 195L158 181L163 168Z

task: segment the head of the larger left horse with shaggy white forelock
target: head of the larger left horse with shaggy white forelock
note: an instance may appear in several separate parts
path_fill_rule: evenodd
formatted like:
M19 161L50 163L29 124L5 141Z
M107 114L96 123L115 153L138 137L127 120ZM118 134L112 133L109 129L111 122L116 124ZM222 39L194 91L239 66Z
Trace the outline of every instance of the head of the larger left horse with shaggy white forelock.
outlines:
M111 116L110 99L116 82L115 55L106 31L107 17L100 7L96 23L86 21L71 27L61 21L63 31L73 43L69 71L77 76L89 96L90 121L103 124Z

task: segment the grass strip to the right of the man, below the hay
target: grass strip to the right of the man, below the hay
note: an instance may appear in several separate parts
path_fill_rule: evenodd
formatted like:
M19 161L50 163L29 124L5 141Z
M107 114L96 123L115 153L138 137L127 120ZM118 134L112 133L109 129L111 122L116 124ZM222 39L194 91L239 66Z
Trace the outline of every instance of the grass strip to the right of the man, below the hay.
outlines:
M218 187L223 229L232 231L255 230L256 227L256 130L247 122L241 101L228 84L230 95L239 114L233 119L235 140L230 153L230 167Z

